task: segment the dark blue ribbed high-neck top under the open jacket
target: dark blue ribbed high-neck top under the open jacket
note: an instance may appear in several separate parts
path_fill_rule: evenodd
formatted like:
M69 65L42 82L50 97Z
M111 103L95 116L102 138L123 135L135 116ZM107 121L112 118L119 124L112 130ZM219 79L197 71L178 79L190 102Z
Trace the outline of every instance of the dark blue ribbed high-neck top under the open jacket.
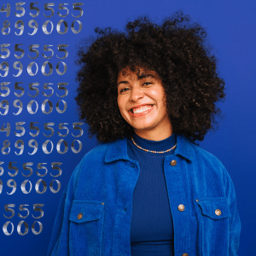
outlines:
M176 134L162 141L133 139L142 148L165 151L176 143ZM140 174L133 192L131 214L132 256L173 256L173 224L169 207L164 160L175 149L164 154L145 152L128 140L128 155L137 160Z

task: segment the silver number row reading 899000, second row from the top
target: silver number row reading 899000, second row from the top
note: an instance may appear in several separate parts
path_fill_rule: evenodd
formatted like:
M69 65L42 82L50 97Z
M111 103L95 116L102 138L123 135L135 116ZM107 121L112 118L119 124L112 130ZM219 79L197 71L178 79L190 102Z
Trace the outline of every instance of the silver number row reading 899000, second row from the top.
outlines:
M78 22L79 23L79 30L75 30L74 26L75 26L75 22ZM32 25L34 23L34 25ZM50 31L49 29L47 28L48 24L50 23ZM61 31L61 24L64 24L64 31ZM20 25L20 26L18 26ZM10 26L11 26L11 23L9 20L4 20L3 21L3 27L2 27L2 34L3 36L7 36L9 35L10 33ZM27 32L30 36L33 36L34 34L36 34L36 32L38 32L38 22L36 20L29 20L28 21L28 26L33 28L34 30L30 33L30 32ZM82 22L79 21L79 20L73 20L72 24L71 24L71 30L74 34L78 34L79 32L81 32L82 30ZM19 29L20 32L17 33L15 32L15 35L16 36L21 36L24 32L24 21L23 20L17 20L15 22L15 28L16 29ZM42 25L42 30L44 32L45 35L49 35L53 32L54 30L54 25L53 23L50 21L50 20L46 20L44 22L44 24ZM57 26L56 26L56 31L60 34L60 35L64 35L67 33L68 31L68 25L67 25L67 21L65 20L59 20L59 22L57 23Z

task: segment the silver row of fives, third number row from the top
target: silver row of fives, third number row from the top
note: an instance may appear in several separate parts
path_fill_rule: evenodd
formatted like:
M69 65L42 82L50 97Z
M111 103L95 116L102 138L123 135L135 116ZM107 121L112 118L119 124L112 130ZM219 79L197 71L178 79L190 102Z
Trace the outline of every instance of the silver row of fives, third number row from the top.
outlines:
M1 46L1 51L7 53L6 55L1 55L1 54L0 54L0 57L1 57L2 59L7 59L7 58L9 57L9 55L10 55L10 50L8 49L8 46L9 46L9 45L10 45L10 44L1 44L1 45L0 45L0 46ZM22 48L20 48L20 47L19 47L20 45L23 45L23 44L15 44L15 52L21 52L21 55L20 55L20 56L19 56L19 55L15 55L15 58L17 58L17 59L21 59L21 58L23 58L23 56L25 55L25 50L22 49ZM53 55L54 55L54 50L48 48L49 46L54 46L54 45L52 45L52 44L45 44L45 45L44 45L44 51L50 51L50 52L51 52L51 55L50 55L50 56L46 56L46 55L44 55L44 53L43 53L42 55L43 55L44 59L50 59L50 58L53 57ZM56 55L56 57L57 57L58 59L65 59L65 58L67 58L68 52L67 52L67 49L65 49L67 46L68 46L68 44L58 44L58 45L57 45L58 50L59 50L60 52L63 51L63 52L65 53L65 55L64 55L63 57L59 57L58 55ZM34 57L31 57L30 55L28 55L28 57L29 57L30 59L37 59L37 58L38 58L39 50L36 49L36 48L39 48L39 44L31 44L31 45L28 46L28 49L29 49L30 52L35 52L35 53L36 53L36 56L34 56Z

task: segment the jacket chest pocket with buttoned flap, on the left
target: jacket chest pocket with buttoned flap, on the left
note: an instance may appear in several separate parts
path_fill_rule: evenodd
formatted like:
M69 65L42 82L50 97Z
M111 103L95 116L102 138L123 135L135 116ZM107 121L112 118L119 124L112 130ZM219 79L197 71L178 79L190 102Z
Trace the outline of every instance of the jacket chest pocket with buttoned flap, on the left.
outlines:
M70 215L70 255L102 255L104 203L74 200Z

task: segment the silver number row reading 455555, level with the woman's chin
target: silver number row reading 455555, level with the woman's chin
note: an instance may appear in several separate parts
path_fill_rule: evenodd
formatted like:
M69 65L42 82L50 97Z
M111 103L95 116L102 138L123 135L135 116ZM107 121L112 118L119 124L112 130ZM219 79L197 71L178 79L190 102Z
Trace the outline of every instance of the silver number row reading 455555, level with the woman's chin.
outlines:
M15 131L15 136L22 137L22 136L25 135L26 129L22 126L22 125L25 125L25 124L26 124L26 122L17 122L17 123L15 123L16 131L19 131L19 130L21 131L19 133ZM40 128L38 126L36 126L35 124L38 124L38 122L30 122L30 125L29 125L30 130L37 131L37 133L32 133L31 131L29 132L29 134L32 137L37 137L39 132L40 132ZM81 122L73 123L73 130L79 130L79 135L73 135L73 133L71 133L73 137L81 137L83 135L84 131L81 127L79 127L80 125L83 125L83 124L84 123L81 123ZM53 127L50 127L50 126L54 126L54 125L55 125L54 122L44 123L44 130L45 131L50 131L49 135L46 135L43 132L44 137L52 137L54 135L55 130L54 130ZM60 130L66 130L67 131L66 134L61 134L61 132L58 131L57 133L60 137L66 137L69 133L69 129L65 125L68 125L68 123L60 123L59 126L58 126ZM9 137L9 135L10 135L10 124L9 123L3 124L0 131L6 132L6 137Z

